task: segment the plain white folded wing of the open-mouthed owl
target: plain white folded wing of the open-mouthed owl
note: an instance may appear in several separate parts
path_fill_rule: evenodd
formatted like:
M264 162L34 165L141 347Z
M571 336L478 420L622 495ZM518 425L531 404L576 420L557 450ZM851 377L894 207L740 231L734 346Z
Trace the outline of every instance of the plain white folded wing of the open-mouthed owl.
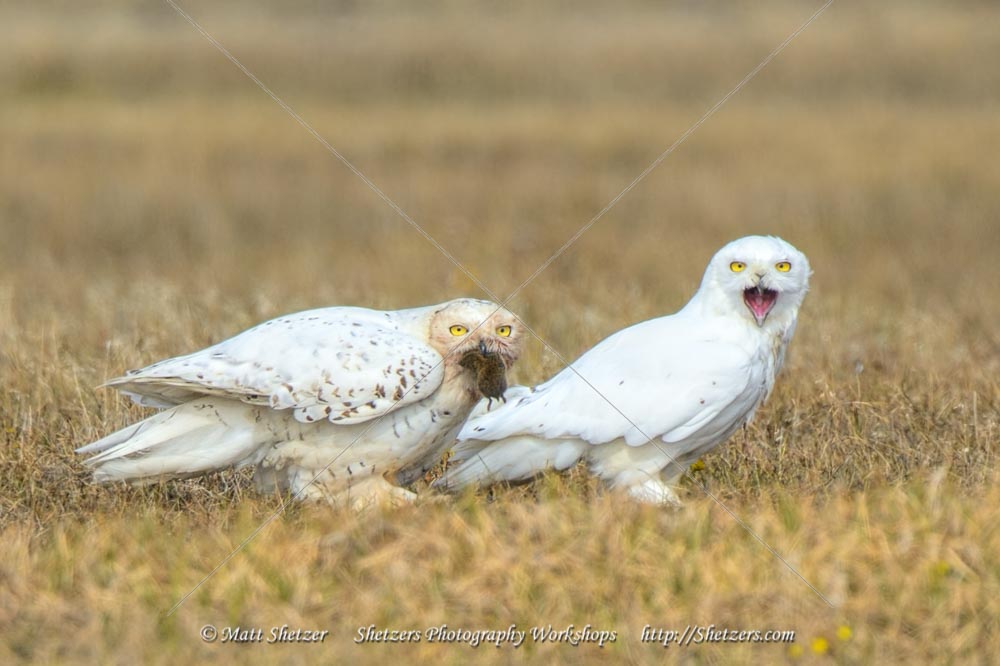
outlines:
M692 331L677 315L654 319L619 331L572 369L470 420L458 438L679 442L723 412L751 409L762 376L750 354L710 330Z

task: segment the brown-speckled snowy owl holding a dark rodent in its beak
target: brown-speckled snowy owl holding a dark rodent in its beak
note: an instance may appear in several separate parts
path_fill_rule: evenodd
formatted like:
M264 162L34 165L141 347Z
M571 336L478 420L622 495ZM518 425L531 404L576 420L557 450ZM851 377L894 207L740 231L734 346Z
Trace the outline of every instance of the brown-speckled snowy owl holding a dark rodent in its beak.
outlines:
M165 408L84 446L96 481L184 478L256 466L262 492L364 505L438 460L479 400L470 350L517 359L506 310L458 299L381 312L331 307L279 317L109 381Z

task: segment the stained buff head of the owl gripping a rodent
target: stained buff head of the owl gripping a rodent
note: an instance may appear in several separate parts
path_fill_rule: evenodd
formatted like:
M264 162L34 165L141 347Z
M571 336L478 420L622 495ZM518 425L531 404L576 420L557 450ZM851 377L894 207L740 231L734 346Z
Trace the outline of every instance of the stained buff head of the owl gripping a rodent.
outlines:
M430 321L430 344L446 363L461 362L466 352L496 353L507 369L521 354L524 331L507 310L491 301L459 298L441 304Z

